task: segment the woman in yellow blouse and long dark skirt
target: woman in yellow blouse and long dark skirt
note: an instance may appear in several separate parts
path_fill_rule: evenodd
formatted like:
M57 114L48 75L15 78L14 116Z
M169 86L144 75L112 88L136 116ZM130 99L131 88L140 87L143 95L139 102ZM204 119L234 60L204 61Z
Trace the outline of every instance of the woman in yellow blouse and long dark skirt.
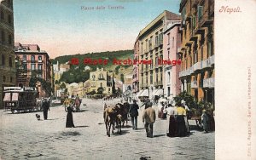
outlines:
M179 104L177 106L177 136L183 137L186 135L186 125L184 117L186 116L186 110Z

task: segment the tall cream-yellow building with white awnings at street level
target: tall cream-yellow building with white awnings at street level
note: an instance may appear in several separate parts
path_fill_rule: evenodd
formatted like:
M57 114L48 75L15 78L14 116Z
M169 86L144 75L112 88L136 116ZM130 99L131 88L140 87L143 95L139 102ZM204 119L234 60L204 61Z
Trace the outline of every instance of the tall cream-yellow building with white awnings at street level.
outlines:
M140 31L138 59L148 64L139 64L139 87L143 90L139 96L153 98L163 93L163 65L158 62L163 59L164 31L173 20L180 20L180 16L165 10Z

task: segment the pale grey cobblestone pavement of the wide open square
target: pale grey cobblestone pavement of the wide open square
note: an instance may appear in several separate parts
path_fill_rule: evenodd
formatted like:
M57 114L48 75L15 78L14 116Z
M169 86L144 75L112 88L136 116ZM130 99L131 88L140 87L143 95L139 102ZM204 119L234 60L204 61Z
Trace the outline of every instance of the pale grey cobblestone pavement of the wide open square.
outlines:
M115 100L116 102L117 100ZM108 101L109 102L109 101ZM114 101L113 101L114 102ZM112 103L113 103L112 102ZM106 135L102 100L83 100L80 112L73 113L76 128L66 129L63 106L43 112L15 113L1 110L0 155L2 159L214 159L214 132L204 134L195 128L188 137L166 136L166 120L156 119L154 138L147 138L139 111L138 129L123 128L123 134ZM156 108L156 107L154 107ZM116 131L115 131L116 132Z

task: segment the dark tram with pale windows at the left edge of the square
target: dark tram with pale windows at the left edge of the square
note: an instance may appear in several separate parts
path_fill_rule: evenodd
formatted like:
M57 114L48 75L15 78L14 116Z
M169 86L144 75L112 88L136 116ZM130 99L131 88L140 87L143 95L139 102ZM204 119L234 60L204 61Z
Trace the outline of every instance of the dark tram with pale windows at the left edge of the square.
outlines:
M32 87L4 87L3 106L5 111L38 111L36 103L38 90Z

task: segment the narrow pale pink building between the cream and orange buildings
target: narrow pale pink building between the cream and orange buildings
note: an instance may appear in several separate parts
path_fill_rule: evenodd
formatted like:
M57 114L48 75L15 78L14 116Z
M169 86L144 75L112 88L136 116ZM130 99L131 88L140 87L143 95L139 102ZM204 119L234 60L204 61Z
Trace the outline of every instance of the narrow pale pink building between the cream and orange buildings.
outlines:
M180 64L177 63L178 55L177 48L181 44L181 31L180 31L181 20L173 21L167 26L164 31L164 94L166 97L177 96L180 93L180 80L178 73L180 71Z

